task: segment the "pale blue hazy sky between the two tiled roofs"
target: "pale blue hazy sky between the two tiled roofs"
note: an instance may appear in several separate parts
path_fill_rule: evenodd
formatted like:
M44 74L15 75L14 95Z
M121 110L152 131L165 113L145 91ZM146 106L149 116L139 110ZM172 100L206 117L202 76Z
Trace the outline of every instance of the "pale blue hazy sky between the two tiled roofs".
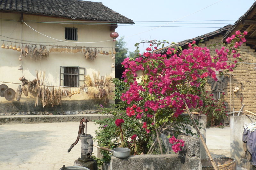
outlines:
M201 20L237 20L240 18L254 3L254 0L92 0L102 2L103 5L110 9L132 19L134 26L118 25L116 32L119 37L125 36L124 41L127 42L129 51L135 50L134 44L141 40L167 40L169 42L179 42L186 39L194 38L205 33L212 32L219 28L189 28L189 27L146 27L145 22L139 21L165 21L154 22L150 26L160 26L168 22L166 21L186 21L171 22L165 26L201 26L201 27L223 27L233 24L235 21L201 21ZM218 2L218 3L216 3ZM216 4L214 4L216 3ZM214 4L206 9L203 9ZM202 11L199 11L203 9ZM196 12L199 11L199 12ZM196 13L194 13L196 12ZM192 14L194 13L194 14ZM192 15L191 15L192 14ZM189 15L189 16L188 16ZM185 17L187 16L187 17ZM185 17L185 18L182 18ZM180 19L182 18L182 19ZM200 20L197 22L187 22ZM142 24L144 26L141 26ZM156 24L161 23L161 24ZM183 23L183 24L180 24ZM195 24L197 23L197 24ZM203 24L205 23L205 24ZM209 24L214 23L214 24ZM215 24L216 23L216 24ZM221 23L221 24L219 24ZM122 24L123 25L123 24ZM154 30L148 31L150 29ZM148 31L148 32L145 32ZM141 33L145 32L145 33ZM140 34L137 34L140 33ZM137 34L131 36L133 34ZM131 37L129 37L131 36ZM141 49L145 49L141 46Z

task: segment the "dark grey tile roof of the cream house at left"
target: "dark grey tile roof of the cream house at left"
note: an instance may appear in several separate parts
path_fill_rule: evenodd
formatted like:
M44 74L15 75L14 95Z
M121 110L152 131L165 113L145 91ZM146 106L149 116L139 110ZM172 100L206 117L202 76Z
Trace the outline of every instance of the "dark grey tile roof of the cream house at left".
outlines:
M109 9L102 3L91 1L0 0L0 10L52 15L72 19L134 24L131 19Z

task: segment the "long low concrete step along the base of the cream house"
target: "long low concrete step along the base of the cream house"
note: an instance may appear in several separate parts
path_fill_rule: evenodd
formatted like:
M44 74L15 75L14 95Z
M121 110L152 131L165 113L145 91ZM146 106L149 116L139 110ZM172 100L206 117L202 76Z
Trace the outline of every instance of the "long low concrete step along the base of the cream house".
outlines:
M102 120L112 115L101 114L80 114L80 115L13 115L0 116L0 124L20 124L20 123L50 123L50 122L79 122L82 118L90 121Z

